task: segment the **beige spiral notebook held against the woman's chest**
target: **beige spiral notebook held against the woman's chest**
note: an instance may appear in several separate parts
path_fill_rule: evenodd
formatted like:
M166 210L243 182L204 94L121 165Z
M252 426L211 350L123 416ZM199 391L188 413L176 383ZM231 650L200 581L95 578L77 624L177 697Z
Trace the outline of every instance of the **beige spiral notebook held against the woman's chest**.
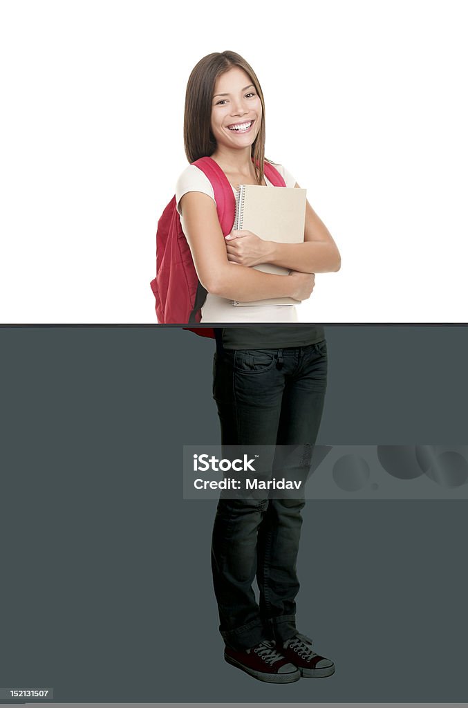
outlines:
M306 190L292 187L263 187L241 184L233 229L246 229L264 241L282 244L300 244L304 241ZM290 271L278 265L262 263L256 270L273 275L287 275ZM291 305L292 297L273 297L234 305Z

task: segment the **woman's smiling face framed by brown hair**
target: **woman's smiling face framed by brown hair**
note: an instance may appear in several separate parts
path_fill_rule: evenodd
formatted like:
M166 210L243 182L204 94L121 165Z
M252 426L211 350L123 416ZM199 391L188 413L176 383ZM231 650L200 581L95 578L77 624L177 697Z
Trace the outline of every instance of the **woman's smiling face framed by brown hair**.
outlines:
M250 148L262 120L261 100L250 76L232 67L218 76L213 94L211 130L217 149Z

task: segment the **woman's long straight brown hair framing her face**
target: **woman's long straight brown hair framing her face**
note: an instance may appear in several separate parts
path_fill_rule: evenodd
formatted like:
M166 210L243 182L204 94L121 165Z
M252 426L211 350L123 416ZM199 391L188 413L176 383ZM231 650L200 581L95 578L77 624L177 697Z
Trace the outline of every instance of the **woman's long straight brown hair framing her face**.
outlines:
M251 146L258 184L263 183L265 161L265 101L260 82L250 64L236 52L214 52L200 59L189 76L186 91L186 109L183 116L183 143L188 161L215 152L216 140L211 130L211 106L218 76L232 67L244 69L255 86L262 105L262 120L258 135Z

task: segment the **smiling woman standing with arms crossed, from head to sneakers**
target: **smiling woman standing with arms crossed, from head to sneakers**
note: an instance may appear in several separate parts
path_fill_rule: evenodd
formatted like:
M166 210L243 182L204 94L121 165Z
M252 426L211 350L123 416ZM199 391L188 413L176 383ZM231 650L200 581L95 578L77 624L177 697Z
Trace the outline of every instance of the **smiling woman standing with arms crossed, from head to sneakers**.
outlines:
M188 81L184 125L191 162L210 156L234 193L240 184L268 186L264 174L265 106L255 73L234 52L208 55ZM299 187L281 165L287 187ZM247 231L224 238L210 181L190 164L178 180L176 201L201 285L207 291L202 322L294 322L294 306L235 308L233 299L290 296L307 299L314 273L338 270L340 256L328 230L307 203L304 243L270 244ZM282 265L290 275L251 266ZM277 452L302 447L310 463L324 405L327 355L315 326L217 329L213 396L222 445L273 450L272 476L281 476ZM280 447L278 447L280 446ZM224 658L258 680L291 683L329 676L333 661L299 634L296 558L304 496L220 498L212 537L212 573L224 639ZM252 589L256 578L257 602Z

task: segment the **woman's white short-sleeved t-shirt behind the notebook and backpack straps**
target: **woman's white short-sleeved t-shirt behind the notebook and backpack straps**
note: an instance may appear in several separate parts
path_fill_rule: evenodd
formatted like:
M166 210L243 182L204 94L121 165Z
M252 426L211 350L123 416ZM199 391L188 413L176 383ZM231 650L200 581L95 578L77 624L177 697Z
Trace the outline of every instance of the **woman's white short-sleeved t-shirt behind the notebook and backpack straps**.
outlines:
M290 172L282 165L273 162L285 181L287 187L294 187L296 181ZM265 177L267 187L273 185ZM236 200L239 193L232 187ZM202 192L207 194L216 203L215 193L210 180L196 165L188 165L176 183L177 211L181 217L181 227L187 236L180 201L187 192ZM190 246L190 242L189 242ZM207 294L202 307L201 322L297 322L295 305L249 305L234 307L232 300L218 295Z

